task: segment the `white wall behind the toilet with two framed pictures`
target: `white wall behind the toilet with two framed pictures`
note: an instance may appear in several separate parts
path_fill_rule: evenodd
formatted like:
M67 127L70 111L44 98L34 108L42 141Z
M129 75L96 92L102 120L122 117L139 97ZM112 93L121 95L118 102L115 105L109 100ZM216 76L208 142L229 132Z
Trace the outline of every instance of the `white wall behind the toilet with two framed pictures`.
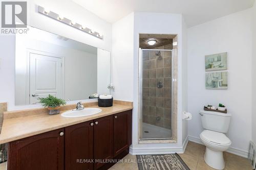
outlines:
M198 112L204 105L224 103L232 114L229 151L244 156L251 140L251 28L248 9L188 29L188 111L193 114L189 137L199 139L203 131ZM228 89L206 90L204 56L222 52L228 53Z

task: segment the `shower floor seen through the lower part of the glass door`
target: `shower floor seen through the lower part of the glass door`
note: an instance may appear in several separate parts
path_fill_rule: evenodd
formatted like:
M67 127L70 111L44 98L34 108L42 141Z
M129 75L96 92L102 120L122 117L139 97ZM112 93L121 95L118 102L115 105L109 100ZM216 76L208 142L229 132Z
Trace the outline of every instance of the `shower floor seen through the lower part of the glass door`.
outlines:
M142 138L170 138L170 129L161 128L159 126L142 124Z

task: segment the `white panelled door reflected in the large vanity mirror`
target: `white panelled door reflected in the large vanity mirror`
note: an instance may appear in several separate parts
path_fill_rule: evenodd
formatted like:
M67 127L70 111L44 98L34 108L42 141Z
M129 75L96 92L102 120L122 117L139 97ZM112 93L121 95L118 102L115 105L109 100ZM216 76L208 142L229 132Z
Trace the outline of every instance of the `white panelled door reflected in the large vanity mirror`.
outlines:
M61 95L61 58L30 53L30 104L49 94Z

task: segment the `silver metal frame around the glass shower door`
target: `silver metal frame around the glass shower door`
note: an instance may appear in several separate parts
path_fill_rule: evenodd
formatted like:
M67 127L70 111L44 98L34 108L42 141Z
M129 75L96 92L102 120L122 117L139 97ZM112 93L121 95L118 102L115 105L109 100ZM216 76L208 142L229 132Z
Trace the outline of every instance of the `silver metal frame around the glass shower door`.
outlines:
M176 66L174 67L174 57L173 56L173 50L161 50L161 49L143 49L139 48L139 143L172 143L172 142L177 142L174 134L174 81L177 81L176 78L174 78L174 69L176 69ZM142 138L143 134L143 129L142 129L142 124L143 124L143 87L142 87L142 72L143 72L143 51L170 51L171 52L171 61L172 61L172 74L171 74L171 82L172 82L172 99L171 99L171 129L170 129L170 138ZM175 87L176 88L176 87ZM175 99L177 100L177 99ZM175 129L176 130L176 129Z

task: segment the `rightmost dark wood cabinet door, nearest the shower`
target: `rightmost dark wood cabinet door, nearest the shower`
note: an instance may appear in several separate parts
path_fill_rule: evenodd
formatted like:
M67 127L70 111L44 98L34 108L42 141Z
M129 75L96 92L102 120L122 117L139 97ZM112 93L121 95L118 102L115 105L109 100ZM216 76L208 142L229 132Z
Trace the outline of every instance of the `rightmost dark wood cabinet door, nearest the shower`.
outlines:
M132 110L114 114L114 156L132 144Z

